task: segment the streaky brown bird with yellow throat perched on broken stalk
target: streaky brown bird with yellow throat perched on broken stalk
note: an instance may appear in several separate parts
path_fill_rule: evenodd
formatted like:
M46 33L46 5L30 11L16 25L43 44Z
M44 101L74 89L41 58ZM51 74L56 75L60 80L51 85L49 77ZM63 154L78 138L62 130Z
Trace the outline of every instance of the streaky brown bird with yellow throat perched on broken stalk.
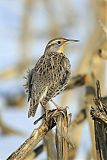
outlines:
M78 40L55 38L47 44L43 56L27 77L28 101L30 109L28 117L34 117L38 104L46 110L46 104L63 91L71 74L70 61L64 55L67 42Z

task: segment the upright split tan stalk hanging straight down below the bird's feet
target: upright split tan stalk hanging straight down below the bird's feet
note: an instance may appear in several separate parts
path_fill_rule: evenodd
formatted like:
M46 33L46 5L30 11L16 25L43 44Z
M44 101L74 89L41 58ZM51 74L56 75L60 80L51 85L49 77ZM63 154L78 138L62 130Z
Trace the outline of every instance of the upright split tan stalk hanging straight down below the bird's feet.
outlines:
M56 148L57 148L57 159L67 160L68 159L68 142L66 138L68 136L68 118L66 109L56 119ZM63 135L65 137L63 137Z

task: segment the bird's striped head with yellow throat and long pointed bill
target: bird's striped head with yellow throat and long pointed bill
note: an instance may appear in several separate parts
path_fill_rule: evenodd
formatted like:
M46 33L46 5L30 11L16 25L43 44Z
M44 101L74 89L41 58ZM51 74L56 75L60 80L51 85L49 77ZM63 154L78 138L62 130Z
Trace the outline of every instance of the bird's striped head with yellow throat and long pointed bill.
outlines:
M63 53L67 42L78 42L79 40L55 38L48 42L45 52Z

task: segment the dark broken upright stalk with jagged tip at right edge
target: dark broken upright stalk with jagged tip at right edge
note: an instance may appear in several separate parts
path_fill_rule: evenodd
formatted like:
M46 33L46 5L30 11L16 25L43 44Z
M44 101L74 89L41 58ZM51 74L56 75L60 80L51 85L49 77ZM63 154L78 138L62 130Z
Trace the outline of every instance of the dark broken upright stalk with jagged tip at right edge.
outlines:
M102 102L100 82L96 82L96 107L90 113L94 119L95 141L98 160L107 159L107 103Z

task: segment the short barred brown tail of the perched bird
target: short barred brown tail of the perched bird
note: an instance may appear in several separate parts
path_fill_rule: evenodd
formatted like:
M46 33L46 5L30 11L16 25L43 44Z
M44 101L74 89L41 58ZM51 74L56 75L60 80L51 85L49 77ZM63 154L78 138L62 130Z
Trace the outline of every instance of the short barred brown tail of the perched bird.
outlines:
M39 103L32 103L32 100L30 101L30 108L29 108L29 111L28 111L28 118L35 116L38 104Z

